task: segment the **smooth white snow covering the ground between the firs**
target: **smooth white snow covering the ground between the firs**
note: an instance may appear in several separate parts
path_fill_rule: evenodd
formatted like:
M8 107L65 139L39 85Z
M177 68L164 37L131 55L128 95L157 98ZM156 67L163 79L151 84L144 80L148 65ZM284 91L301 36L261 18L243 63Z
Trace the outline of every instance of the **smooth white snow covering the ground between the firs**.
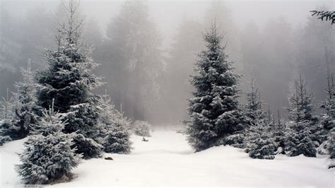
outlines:
M334 187L334 170L327 169L326 156L257 160L230 146L194 153L185 136L175 131L155 131L148 142L141 139L131 136L130 155L105 153L114 160L83 160L73 171L74 180L52 186ZM22 186L14 170L22 144L19 140L0 147L0 187Z

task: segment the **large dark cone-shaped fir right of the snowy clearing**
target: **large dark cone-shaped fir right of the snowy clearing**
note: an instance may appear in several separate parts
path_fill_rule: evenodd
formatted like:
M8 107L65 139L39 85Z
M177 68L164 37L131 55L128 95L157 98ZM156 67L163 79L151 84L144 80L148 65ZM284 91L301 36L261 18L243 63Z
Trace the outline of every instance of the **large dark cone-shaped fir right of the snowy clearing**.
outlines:
M221 39L213 23L204 35L207 49L196 61L197 75L192 76L195 91L189 100L191 119L185 124L188 141L196 151L225 144L227 136L243 129L244 118L237 101L239 76L233 73Z

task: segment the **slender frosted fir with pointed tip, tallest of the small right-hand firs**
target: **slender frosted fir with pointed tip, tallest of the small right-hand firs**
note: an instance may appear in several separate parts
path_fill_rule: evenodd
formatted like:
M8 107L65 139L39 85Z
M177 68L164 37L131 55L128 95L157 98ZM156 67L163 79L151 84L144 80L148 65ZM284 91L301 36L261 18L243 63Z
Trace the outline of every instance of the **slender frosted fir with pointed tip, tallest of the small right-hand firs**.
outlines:
M315 157L315 143L312 141L310 130L315 123L312 114L312 94L307 93L306 83L300 75L300 80L291 86L288 112L290 122L286 124L286 153L289 156L303 154Z

